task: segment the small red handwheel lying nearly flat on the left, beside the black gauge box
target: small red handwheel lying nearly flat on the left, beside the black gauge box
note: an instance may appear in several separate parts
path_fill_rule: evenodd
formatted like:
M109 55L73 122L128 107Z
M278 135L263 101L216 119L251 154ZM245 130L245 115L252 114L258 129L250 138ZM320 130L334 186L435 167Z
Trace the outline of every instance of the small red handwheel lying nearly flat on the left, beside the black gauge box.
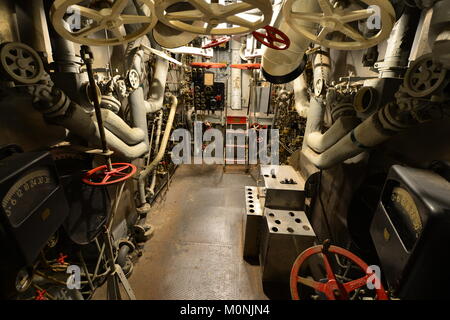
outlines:
M91 186L106 186L131 178L136 170L137 168L131 163L113 163L111 171L103 165L86 172L82 181Z

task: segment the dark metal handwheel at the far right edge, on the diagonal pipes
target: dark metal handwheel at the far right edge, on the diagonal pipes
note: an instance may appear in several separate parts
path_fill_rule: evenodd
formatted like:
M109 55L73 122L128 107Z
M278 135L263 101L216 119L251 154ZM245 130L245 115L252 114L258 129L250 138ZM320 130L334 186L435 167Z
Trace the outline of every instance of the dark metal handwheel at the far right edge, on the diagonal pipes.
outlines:
M403 85L412 97L421 98L440 89L445 82L447 70L426 54L414 61L406 71Z

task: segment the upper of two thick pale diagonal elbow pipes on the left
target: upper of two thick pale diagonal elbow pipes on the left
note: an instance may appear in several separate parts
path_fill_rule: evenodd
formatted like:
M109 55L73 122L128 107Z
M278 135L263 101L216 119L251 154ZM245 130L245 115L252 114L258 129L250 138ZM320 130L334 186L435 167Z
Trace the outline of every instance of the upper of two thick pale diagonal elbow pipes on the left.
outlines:
M128 145L141 143L145 139L145 133L140 128L130 128L121 117L108 109L102 109L102 118L105 128L114 133L119 139Z

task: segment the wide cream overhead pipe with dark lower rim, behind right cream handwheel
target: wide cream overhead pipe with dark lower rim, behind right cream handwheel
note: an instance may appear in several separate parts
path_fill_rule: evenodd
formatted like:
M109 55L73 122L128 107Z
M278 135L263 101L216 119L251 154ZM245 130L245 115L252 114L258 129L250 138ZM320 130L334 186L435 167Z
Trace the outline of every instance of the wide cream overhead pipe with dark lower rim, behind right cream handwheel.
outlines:
M297 0L293 5L294 11L315 12L319 10L318 2L311 0ZM311 22L303 23L305 27L312 27ZM262 73L272 83L287 83L296 79L305 66L305 52L311 41L291 29L284 17L275 25L291 40L287 50L264 48L262 58Z

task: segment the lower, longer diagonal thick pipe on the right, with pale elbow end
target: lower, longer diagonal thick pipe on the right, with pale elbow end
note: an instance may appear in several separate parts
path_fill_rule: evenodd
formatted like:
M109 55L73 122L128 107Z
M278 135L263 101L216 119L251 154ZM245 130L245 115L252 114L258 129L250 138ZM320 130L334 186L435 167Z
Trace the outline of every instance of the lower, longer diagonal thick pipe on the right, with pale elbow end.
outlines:
M317 168L331 168L411 127L411 122L399 122L394 119L392 114L395 114L397 111L398 106L396 104L388 104L367 118L325 152L317 154L310 148L306 148L302 152Z

